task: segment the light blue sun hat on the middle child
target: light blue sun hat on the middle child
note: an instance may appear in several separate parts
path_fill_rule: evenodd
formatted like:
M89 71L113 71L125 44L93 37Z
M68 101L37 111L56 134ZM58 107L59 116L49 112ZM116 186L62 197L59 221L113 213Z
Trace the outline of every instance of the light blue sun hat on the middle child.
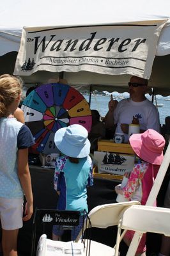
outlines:
M90 152L88 131L79 124L72 124L56 131L54 143L66 156L83 158Z

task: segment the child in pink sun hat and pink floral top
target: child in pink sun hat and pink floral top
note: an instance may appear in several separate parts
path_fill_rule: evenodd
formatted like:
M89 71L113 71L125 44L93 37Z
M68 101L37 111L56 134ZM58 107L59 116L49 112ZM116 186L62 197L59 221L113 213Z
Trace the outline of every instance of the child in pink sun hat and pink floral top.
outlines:
M129 142L135 154L139 157L139 163L135 164L130 173L127 185L124 188L120 188L118 185L115 187L115 191L128 200L137 200L145 205L164 158L165 140L158 132L148 129L141 134L132 134ZM133 236L134 231L132 230L128 230L125 234L123 239L128 246ZM146 234L143 234L135 255L146 255Z

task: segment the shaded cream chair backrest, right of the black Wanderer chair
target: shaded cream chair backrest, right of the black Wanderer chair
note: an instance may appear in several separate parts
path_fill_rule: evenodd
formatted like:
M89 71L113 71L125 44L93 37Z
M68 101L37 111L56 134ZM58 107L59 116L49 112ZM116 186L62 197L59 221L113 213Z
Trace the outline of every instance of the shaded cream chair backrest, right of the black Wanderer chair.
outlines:
M128 207L140 204L138 201L121 202L114 204L103 204L93 208L88 216L91 226L96 228L107 228L118 225L121 215Z

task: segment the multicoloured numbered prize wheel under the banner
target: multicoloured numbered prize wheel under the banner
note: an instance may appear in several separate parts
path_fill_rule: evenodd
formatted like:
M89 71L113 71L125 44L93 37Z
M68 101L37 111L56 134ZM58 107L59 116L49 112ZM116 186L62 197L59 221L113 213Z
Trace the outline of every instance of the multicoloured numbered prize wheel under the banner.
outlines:
M58 129L80 124L91 130L91 110L83 95L66 84L44 84L33 90L22 103L25 124L31 130L35 145L31 152L58 152L54 135Z

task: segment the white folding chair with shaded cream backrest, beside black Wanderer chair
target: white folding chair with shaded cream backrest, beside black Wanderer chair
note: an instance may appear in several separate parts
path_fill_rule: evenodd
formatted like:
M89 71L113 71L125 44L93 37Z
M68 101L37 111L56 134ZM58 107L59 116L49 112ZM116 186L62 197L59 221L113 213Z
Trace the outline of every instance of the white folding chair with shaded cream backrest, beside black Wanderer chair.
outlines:
M125 212L132 205L140 204L138 201L130 201L130 202L121 202L115 204L104 204L98 205L93 208L89 212L89 220L91 221L91 227L96 228L107 228L114 225L118 225L121 220L121 216L123 212ZM75 240L78 243L85 244L85 255L90 256L118 256L118 248L112 248L102 243L98 243L96 241L88 240L88 239L80 239L82 232L79 233L79 236ZM122 236L120 239L122 239ZM89 243L89 244L88 244Z

